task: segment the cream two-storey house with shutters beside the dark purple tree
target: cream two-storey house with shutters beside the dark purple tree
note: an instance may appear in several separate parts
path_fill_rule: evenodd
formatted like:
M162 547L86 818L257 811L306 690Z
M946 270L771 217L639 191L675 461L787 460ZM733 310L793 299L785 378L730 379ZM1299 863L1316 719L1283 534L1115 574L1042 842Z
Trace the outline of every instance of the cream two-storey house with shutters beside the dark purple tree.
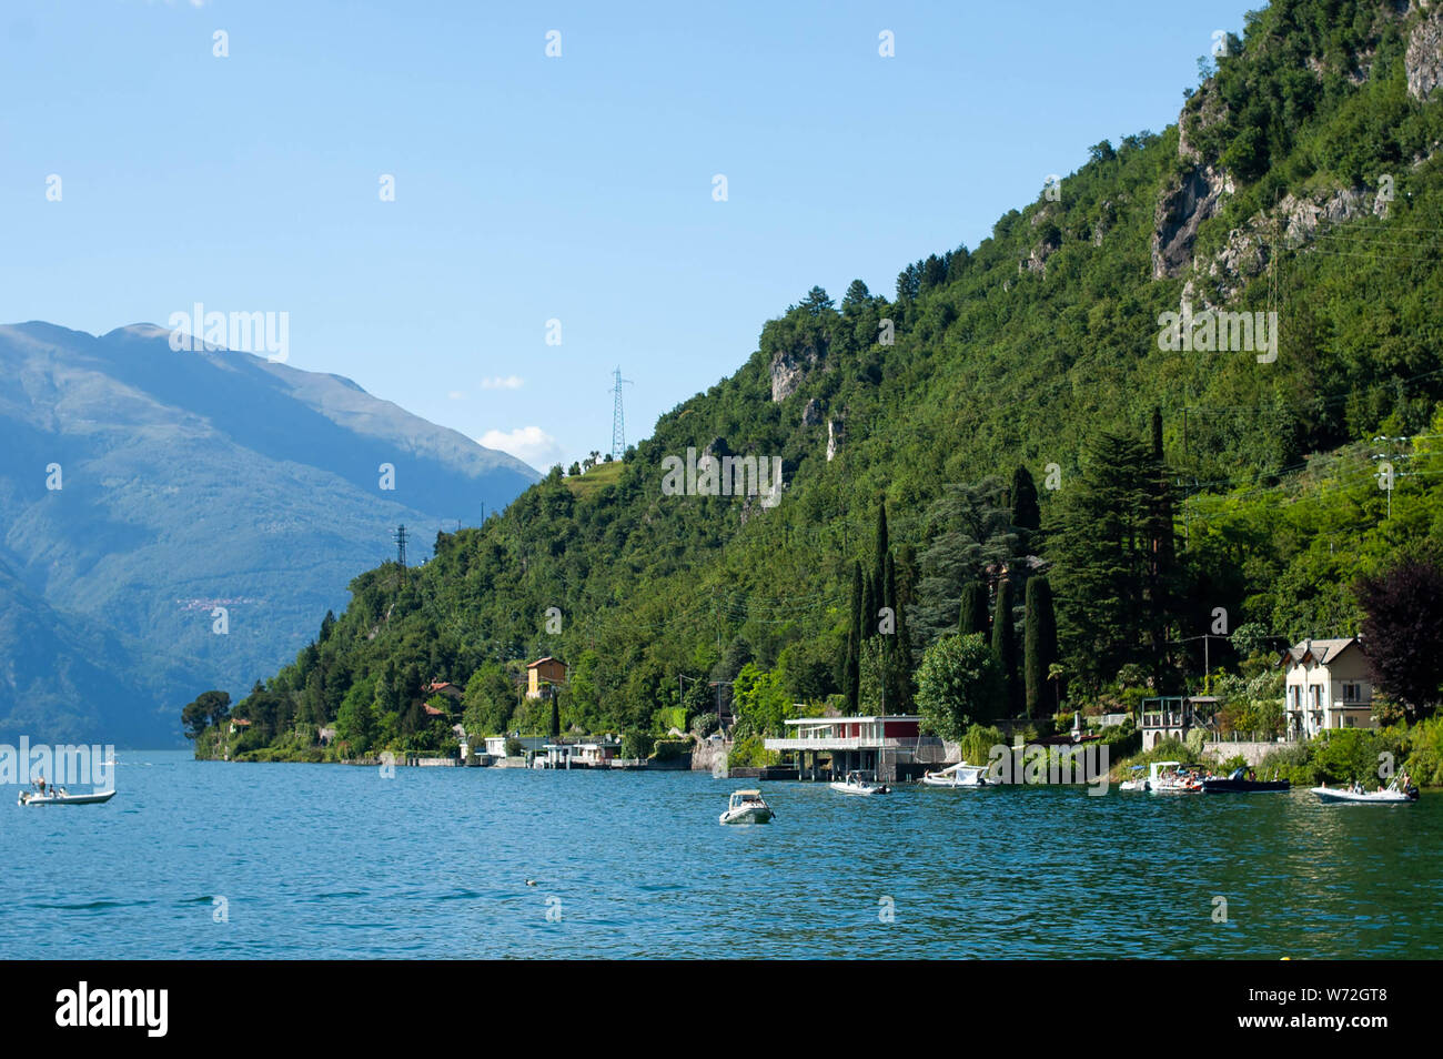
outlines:
M1287 667L1283 717L1289 739L1312 739L1325 729L1371 729L1372 681L1355 636L1304 639L1283 652Z

